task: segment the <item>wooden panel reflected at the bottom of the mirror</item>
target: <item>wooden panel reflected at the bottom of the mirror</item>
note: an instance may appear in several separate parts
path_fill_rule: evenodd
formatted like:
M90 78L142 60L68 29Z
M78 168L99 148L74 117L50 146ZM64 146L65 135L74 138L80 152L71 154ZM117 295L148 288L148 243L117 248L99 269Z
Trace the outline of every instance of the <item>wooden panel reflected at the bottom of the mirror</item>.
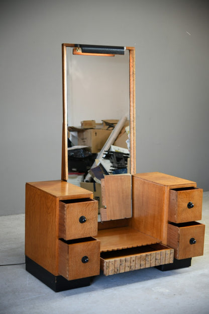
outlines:
M131 217L131 175L105 176L104 187L107 220Z

